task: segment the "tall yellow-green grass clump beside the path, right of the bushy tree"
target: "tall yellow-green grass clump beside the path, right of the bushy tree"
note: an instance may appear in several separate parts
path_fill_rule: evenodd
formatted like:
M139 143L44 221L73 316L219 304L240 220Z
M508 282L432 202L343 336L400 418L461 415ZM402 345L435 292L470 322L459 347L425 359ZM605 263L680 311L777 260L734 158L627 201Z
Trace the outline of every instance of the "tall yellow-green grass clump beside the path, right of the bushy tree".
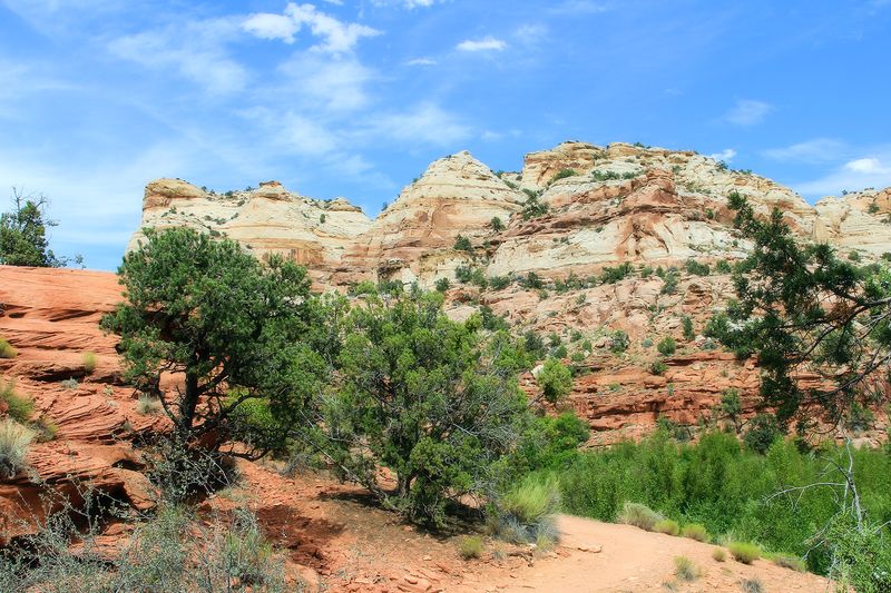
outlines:
M530 474L497 501L493 531L508 542L547 547L559 537L554 522L559 505L557 480Z

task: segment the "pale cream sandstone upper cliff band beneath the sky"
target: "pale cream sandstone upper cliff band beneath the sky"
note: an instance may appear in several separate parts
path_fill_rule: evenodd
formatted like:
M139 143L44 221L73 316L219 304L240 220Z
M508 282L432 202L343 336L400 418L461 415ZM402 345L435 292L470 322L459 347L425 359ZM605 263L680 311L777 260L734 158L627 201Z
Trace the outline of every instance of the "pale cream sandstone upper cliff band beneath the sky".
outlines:
M275 181L219 195L159 179L146 187L143 227L225 234L258 255L278 253L306 265L325 287L372 279L429 288L462 265L489 276L558 278L625 261L738 258L747 246L732 226L732 191L764 215L780 208L803 240L873 257L891 248L889 190L825 198L814 207L786 187L708 157L620 142L565 142L527 155L520 172L498 176L459 152L433 162L374 220L342 198L314 200ZM522 216L529 195L549 206L546 216ZM493 218L505 230L492 229ZM453 249L458 235L471 239L474 254ZM137 231L129 248L139 238Z

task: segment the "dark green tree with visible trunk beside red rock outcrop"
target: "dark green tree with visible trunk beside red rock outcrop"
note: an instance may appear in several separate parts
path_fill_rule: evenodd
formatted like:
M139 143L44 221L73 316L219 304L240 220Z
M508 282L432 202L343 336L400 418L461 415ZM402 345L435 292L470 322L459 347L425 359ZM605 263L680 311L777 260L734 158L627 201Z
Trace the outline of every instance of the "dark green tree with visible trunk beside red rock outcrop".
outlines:
M218 447L241 431L251 456L282 445L326 366L305 345L305 269L190 229L145 235L118 269L126 302L102 319L120 335L127 378L160 397L186 443ZM182 377L175 395L158 387L165 373Z

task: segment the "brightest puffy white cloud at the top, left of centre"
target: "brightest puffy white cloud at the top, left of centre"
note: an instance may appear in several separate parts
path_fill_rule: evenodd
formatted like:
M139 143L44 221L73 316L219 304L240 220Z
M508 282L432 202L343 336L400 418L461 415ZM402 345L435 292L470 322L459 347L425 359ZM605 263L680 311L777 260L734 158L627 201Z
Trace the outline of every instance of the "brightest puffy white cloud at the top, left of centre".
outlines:
M284 14L260 12L242 22L242 29L262 39L281 39L293 43L294 36L304 27L320 38L321 43L313 49L326 53L347 53L364 37L375 37L381 31L358 22L343 22L321 12L314 4L288 2Z

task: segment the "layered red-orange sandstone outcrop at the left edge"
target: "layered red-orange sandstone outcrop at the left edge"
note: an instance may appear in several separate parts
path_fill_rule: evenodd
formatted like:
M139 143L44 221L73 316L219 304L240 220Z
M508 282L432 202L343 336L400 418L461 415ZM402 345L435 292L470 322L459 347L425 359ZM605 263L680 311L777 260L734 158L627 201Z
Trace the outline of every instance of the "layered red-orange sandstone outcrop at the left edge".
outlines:
M28 472L0 482L0 545L66 500L79 505L82 484L137 508L153 504L129 441L164 422L136 412L116 339L98 325L120 299L114 274L0 266L0 336L18 349L0 358L0 384L33 399L32 419L56 427L52 439L31 445ZM87 353L96 360L89 372Z

